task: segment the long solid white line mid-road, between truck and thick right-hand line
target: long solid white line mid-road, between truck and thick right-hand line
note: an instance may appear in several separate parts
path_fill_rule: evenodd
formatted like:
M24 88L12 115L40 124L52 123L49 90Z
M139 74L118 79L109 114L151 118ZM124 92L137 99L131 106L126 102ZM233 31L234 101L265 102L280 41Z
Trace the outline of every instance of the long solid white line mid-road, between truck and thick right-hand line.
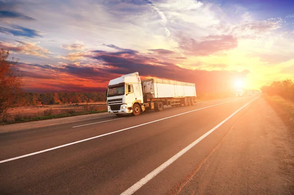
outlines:
M170 119L170 118L172 118L172 117L177 117L177 116L184 115L184 114L187 114L187 113L195 112L195 111L197 111L197 110L202 110L202 109L205 109L205 108L210 108L210 107L213 107L213 106L217 106L217 105L221 105L221 104L224 104L224 103L228 103L228 102L231 102L231 101L237 101L237 100L239 100L239 99L230 100L230 101L225 101L225 102L218 103L218 104L214 104L214 105L207 106L207 107L204 107L204 108L198 108L198 109L196 109L196 110L192 110L192 111L189 111L189 112L184 112L184 113L181 113L181 114L173 115L173 116L171 116L171 117L166 117L166 118L163 118L163 119L158 119L158 120L151 121L151 122L146 122L146 123L143 123L143 124L138 124L138 125L136 125L136 126L127 127L127 128L121 129L121 130L113 131L113 132L110 132L110 133L105 133L105 134L98 135L98 136L91 137L91 138L87 138L87 139L84 139L84 140L79 140L79 141L72 142L72 143L69 143L69 144L65 144L65 145L61 145L61 146L56 146L56 147L52 147L52 148L49 148L49 149L45 149L45 150L41 150L41 151L37 151L37 152L33 152L33 153L30 153L30 154L25 154L25 155L18 156L18 157L14 157L14 158L9 158L9 159L6 159L6 160L2 160L2 161L0 161L0 164L1 164L1 163L8 162L8 161L17 160L17 159L20 159L20 158L25 158L25 157L27 157L27 156L32 156L32 155L40 154L40 153L47 152L47 151L50 151L50 150L53 150L53 149L58 149L58 148L65 147L65 146L71 146L71 145L73 145L73 144L78 144L78 143L81 143L81 142L85 142L85 141L93 140L93 139L96 139L96 138L99 138L99 137L103 137L103 136L106 136L106 135L111 135L111 134L118 133L118 132L121 132L121 131L125 131L125 130L128 130L128 129L136 128L136 127L138 127L138 126L143 126L143 125L150 124L150 123L153 123L153 122L158 122L158 121L162 121L162 120Z

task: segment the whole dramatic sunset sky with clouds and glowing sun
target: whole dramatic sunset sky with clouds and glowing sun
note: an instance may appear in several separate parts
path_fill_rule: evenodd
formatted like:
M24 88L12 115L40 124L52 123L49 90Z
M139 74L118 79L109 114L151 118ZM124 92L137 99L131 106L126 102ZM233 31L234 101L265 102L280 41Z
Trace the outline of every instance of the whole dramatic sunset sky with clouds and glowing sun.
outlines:
M104 92L139 72L220 92L294 78L294 0L0 0L26 92ZM238 86L240 87L240 86Z

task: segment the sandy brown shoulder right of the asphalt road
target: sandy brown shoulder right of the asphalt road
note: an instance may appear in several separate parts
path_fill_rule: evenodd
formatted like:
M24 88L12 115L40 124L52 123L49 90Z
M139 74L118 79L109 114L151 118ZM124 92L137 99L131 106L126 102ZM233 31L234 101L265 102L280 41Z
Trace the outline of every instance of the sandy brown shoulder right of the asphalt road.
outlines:
M294 140L258 98L177 194L291 194Z

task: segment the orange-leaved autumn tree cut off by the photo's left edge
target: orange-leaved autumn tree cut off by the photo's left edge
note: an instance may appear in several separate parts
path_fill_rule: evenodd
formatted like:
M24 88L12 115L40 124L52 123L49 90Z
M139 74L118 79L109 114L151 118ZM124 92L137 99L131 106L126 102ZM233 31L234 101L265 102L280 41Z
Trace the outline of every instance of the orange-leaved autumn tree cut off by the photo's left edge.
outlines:
M21 76L17 61L8 61L9 51L0 49L0 119L5 120L8 108L13 106L13 98L20 92Z

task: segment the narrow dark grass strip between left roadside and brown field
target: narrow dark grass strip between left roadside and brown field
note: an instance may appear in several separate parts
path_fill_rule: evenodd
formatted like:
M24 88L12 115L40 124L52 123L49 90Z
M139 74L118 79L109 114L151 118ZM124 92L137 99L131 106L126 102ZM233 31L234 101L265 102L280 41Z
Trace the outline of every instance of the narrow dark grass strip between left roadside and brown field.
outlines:
M37 116L37 117L30 117L30 118L22 118L22 119L19 119L17 121L2 122L0 124L4 125L4 124L14 124L14 123L21 123L21 122L42 121L42 120L49 120L49 119L73 117L73 116L79 116L79 115L96 114L96 113L102 113L102 112L107 112L107 110L79 112L79 113L64 113L64 114L47 115L47 116Z

